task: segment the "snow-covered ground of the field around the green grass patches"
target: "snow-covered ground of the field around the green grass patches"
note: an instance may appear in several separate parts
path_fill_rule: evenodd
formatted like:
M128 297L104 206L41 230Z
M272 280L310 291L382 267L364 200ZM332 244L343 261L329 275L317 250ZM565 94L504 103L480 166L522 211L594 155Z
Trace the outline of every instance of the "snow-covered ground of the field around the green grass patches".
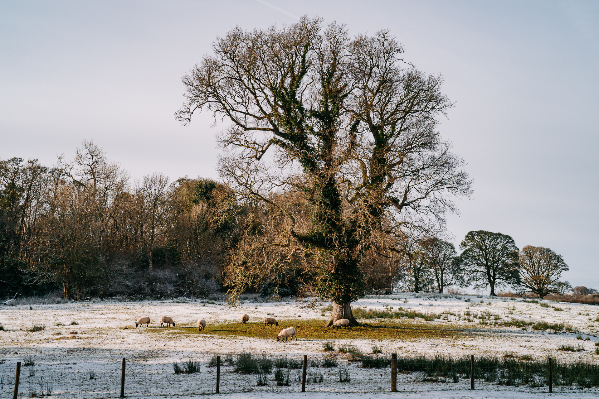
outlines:
M459 299L458 299L459 298ZM466 302L470 299L470 302ZM320 310L301 307L301 302L253 303L246 300L240 309L227 307L222 301L214 304L189 301L138 301L101 303L80 302L66 304L38 304L30 306L1 306L0 324L0 385L2 397L12 397L14 369L17 361L26 357L35 358L35 366L22 367L19 397L29 396L33 390L40 392L40 382L44 390L52 385L52 395L65 398L105 398L118 397L120 367L122 358L127 359L127 397L179 397L212 393L216 386L216 368L207 367L215 354L231 354L242 351L255 355L285 356L301 361L308 355L307 397L328 398L331 395L349 395L350 398L366 397L367 392L383 394L390 389L389 368L380 370L362 368L361 364L350 363L348 355L335 353L337 367L314 367L322 364L323 343L326 339L305 339L301 334L298 341L277 342L276 335L285 327L285 320L319 319L323 325L330 312L322 316ZM542 303L543 301L541 301ZM455 333L447 337L419 336L412 339L341 339L335 340L335 347L355 345L363 354L371 352L373 345L379 346L383 354L395 352L398 357L435 354L452 355L525 355L534 359L552 356L562 361L582 360L597 363L595 354L599 307L586 304L549 303L552 307L541 307L537 303L523 303L521 300L483 299L476 296L459 297L416 297L414 294L393 296L368 296L353 304L367 309L416 310L422 313L443 313L446 319L425 322L421 319L369 319L366 322L385 322L410 328L410 325L451 327ZM391 309L392 308L392 309ZM511 318L530 321L563 323L574 331L579 330L583 339L577 340L577 333L552 330L533 331L530 327L523 331L516 327L492 327L480 324L479 319L468 320L475 313L490 312L501 320ZM259 322L267 313L277 316L279 327L272 329L271 339L253 337L222 336L214 333L181 333L179 329L135 328L135 320L140 316L150 316L150 327L159 325L162 315L173 317L180 325L193 326L200 318L208 325L239 322L241 315L250 315L250 323L255 328L265 328ZM77 325L69 325L71 321ZM492 322L492 321L491 321ZM32 325L45 325L43 331L28 331ZM63 324L63 325L57 325ZM192 331L192 330L189 330ZM580 352L557 351L561 345L582 345ZM174 374L173 361L196 360L201 362L201 372L194 374ZM314 361L314 363L312 363ZM314 366L312 366L314 364ZM93 379L89 371L93 370ZM229 392L231 398L267 397L267 392L298 392L298 370L287 370L291 385L277 386L272 374L267 386L256 386L256 376L235 373L234 367L223 366L220 392ZM347 370L350 382L339 381L340 370ZM319 382L322 376L322 382ZM313 382L316 377L316 383ZM469 391L470 380L458 382L423 382L422 375L398 374L398 390L405 397L428 397L431 391L439 398L464 397L529 397L547 392L547 387L503 386L497 383L476 381L477 391ZM316 391L319 392L316 394ZM554 395L584 397L597 395L597 387L574 389L555 387ZM23 392L23 394L20 394ZM329 393L327 393L329 392ZM332 393L331 393L332 392ZM349 392L349 393L348 393ZM388 394L397 395L397 394ZM268 395L271 397L271 395ZM291 397L305 397L306 394L293 394ZM338 397L338 396L335 396Z

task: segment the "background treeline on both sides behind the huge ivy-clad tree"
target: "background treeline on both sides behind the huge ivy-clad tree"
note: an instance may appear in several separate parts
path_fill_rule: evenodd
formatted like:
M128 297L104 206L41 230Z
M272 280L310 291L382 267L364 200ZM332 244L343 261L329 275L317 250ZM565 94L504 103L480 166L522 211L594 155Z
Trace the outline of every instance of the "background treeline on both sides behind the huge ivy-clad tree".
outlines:
M170 182L162 173L134 183L92 142L51 168L0 160L0 295L312 292L322 259L289 236L282 209L294 215L295 231L312 228L313 210L297 193L241 201L221 182ZM394 251L362 249L365 287L441 293L474 284L492 294L509 286L541 297L571 288L558 280L567 270L560 255L533 246L519 251L506 234L470 232L459 256L452 243L422 231L383 238Z

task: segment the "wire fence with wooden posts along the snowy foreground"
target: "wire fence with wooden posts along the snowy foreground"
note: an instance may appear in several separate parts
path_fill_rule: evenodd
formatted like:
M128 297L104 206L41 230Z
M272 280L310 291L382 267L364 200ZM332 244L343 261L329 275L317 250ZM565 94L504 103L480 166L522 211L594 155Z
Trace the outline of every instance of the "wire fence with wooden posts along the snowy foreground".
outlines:
M305 377L300 356L271 356L240 352L220 355L219 391L299 392L305 378L306 392L388 392L392 374L398 391L474 389L519 392L599 392L599 364L553 359L528 360L514 357L464 355L458 358L397 357L392 373L390 354L361 354L352 346L307 357ZM126 360L123 392L126 397L157 397L213 394L217 389L217 356L204 360L181 359L159 362L140 358ZM14 376L14 374L13 374ZM8 392L14 377L0 377ZM98 362L89 370L57 363L53 372L23 367L17 396L116 398L120 396L122 364L119 360ZM7 388L7 389L4 389ZM7 396L8 397L8 396Z

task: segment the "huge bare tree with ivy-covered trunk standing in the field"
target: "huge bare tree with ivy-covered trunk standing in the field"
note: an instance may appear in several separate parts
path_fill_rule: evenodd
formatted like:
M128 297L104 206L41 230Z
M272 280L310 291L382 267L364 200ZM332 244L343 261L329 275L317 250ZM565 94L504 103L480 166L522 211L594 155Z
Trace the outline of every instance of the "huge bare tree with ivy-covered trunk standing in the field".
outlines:
M220 175L247 199L280 206L297 242L320 265L329 325L364 295L359 263L400 251L389 237L431 229L453 198L470 194L463 162L435 130L452 103L440 76L401 59L389 33L351 39L341 25L303 17L282 29L234 28L183 78L177 118L226 121ZM293 191L310 204L310 229L271 200Z

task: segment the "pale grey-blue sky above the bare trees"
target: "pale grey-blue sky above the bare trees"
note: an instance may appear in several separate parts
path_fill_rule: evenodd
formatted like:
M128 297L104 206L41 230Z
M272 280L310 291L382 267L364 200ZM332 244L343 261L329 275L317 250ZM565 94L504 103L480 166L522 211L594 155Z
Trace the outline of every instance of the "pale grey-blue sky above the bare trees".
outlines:
M219 127L174 119L181 76L232 26L302 15L391 28L406 59L444 75L456 104L440 132L474 181L448 218L456 246L470 230L509 234L599 288L597 1L0 0L0 158L51 166L92 139L136 179L216 178Z

